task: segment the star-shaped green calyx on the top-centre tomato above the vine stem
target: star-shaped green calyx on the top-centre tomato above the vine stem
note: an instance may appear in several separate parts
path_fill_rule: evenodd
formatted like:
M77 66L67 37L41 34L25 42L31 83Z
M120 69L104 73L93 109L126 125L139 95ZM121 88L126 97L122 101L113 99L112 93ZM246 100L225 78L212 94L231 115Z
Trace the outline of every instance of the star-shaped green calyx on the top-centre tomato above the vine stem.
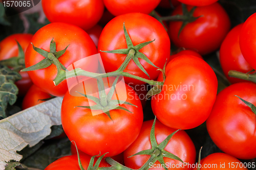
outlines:
M139 58L145 60L148 64L151 64L152 66L154 67L157 67L155 64L153 64L150 59L148 59L143 53L139 52L139 50L141 48L143 48L144 46L146 46L147 44L150 44L152 43L153 41L155 40L152 40L152 41L147 41L147 42L143 42L143 43L140 43L138 45L133 45L133 42L131 40L131 37L129 36L129 34L127 33L127 30L124 26L124 23L123 23L123 31L124 31L124 36L125 36L125 40L126 40L126 44L127 44L127 48L124 48L124 49L118 49L118 50L112 50L112 51L101 51L101 52L104 52L104 53L114 53L114 54L126 54L128 55L129 52L131 52L131 50L134 50L134 56L132 57L132 60L135 62L135 64L148 76L150 77L146 70L144 69L144 67L141 65L141 63L139 62ZM129 62L128 62L129 63ZM126 65L128 64L126 63ZM122 68L124 69L125 66L123 66ZM159 68L159 67L157 67ZM122 71L123 71L122 69Z

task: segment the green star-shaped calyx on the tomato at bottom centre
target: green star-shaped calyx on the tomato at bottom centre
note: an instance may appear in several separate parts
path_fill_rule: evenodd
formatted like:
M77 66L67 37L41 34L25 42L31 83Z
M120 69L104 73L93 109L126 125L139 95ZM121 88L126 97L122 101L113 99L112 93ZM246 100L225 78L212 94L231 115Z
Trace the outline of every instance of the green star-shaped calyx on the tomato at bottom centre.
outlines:
M149 150L144 150L144 151L140 151L132 156L135 155L151 155L154 156L154 159L151 161L152 163L155 163L156 161L159 161L161 164L165 164L163 158L167 157L170 159L175 159L175 160L179 160L183 163L183 161L176 155L169 153L167 151L164 150L164 148L166 147L166 145L168 144L168 141L170 140L170 138L173 137L173 135L178 132L179 130L173 132L172 134L168 135L160 144L157 144L157 140L156 140L156 136L155 136L155 125L156 125L156 117L151 129L151 133L150 133L150 141L151 141L151 149ZM132 157L130 156L130 157ZM148 167L149 168L149 167ZM146 169L148 169L146 168ZM166 170L168 170L168 168L165 167Z

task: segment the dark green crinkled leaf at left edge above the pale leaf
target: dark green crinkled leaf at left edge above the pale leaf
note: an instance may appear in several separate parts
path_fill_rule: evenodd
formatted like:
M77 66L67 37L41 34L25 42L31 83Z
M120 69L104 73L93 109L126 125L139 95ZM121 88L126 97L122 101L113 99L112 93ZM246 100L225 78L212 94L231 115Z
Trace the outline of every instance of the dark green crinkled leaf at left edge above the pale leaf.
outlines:
M17 100L18 88L15 81L22 77L10 68L0 65L0 117L7 117L6 108L8 103L13 105Z

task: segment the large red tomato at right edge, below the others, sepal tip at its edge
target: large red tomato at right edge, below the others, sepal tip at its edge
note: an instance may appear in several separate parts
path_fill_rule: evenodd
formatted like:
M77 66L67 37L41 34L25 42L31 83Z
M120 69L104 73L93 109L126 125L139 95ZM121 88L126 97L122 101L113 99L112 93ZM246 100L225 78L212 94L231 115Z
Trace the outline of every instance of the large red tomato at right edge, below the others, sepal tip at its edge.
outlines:
M237 83L222 90L206 121L211 139L226 154L256 158L256 115L240 98L256 105L256 84Z

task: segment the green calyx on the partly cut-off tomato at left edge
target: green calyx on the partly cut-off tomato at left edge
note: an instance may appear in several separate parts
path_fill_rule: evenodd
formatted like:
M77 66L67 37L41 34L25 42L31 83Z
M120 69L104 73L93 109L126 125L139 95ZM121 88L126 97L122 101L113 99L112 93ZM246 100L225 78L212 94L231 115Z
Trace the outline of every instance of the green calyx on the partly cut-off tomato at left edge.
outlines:
M25 55L22 49L22 46L17 42L18 45L18 56L12 57L6 60L0 61L0 64L11 67L14 71L19 71L20 69L25 68Z

